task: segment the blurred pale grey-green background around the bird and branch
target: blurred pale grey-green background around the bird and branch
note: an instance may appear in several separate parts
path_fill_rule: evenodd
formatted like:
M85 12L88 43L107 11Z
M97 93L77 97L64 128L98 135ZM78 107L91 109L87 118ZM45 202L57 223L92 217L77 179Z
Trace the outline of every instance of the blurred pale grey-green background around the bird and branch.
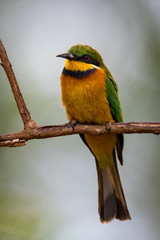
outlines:
M125 121L160 120L159 0L0 0L0 38L32 118L67 122L57 54L97 49L115 77ZM22 121L0 68L0 133ZM131 221L99 221L95 163L78 136L0 149L0 239L145 239L160 236L160 137L125 135L119 167Z

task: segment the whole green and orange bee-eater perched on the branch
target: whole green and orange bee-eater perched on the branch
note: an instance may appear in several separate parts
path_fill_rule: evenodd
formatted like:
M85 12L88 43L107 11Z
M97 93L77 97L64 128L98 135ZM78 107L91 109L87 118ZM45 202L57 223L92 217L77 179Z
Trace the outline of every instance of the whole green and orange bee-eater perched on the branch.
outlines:
M78 44L57 57L66 59L61 89L70 122L100 125L123 122L117 84L96 50ZM123 163L123 134L84 134L80 137L96 160L101 222L131 219L116 161L119 159Z

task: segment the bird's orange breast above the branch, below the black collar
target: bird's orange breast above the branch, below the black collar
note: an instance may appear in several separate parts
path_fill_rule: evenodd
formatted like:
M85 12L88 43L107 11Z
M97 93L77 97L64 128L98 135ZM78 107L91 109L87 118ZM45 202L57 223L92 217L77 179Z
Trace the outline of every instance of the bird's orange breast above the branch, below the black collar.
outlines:
M61 75L62 102L69 121L97 124L113 122L104 79L105 72L101 68L80 79Z

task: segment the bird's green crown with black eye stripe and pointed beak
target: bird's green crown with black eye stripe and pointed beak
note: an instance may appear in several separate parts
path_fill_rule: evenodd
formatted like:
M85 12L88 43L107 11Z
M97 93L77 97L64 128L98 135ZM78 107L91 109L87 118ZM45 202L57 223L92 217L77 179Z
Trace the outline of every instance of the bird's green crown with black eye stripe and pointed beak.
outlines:
M101 55L88 45L72 46L67 53L60 54L57 57L63 57L68 60L82 62L85 64L92 64L97 67L106 69Z

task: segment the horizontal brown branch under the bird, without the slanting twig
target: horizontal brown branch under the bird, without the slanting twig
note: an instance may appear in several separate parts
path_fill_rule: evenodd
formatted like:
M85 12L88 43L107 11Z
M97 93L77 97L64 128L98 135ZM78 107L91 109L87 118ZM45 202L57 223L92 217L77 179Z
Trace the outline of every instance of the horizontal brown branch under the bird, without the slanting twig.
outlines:
M0 135L0 147L24 146L25 142L31 139L42 139L85 133L93 135L99 135L103 133L153 133L158 135L160 134L160 122L108 123L106 126L77 123L74 128L70 123L64 125L37 126L34 128L24 129L18 133Z

